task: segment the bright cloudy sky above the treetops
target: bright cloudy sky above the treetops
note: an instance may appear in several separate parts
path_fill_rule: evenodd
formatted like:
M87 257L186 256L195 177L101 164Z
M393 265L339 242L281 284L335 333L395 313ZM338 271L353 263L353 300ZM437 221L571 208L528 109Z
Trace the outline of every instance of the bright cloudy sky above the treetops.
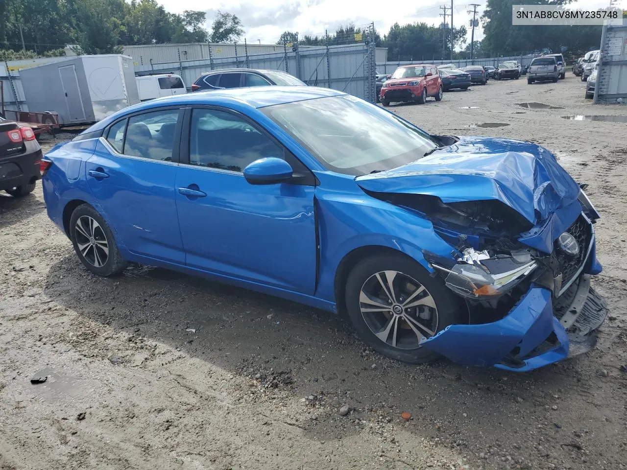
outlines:
M217 0L207 9L206 0L158 0L167 11L182 13L183 10L201 10L207 12L210 29L216 11L228 11L238 18L246 30L244 37L248 43L275 44L283 31L304 34L322 35L325 29L329 34L337 26L353 23L363 26L374 21L374 26L383 36L394 23L407 24L424 22L440 24L442 13L440 6L450 0L438 2L436 0L398 1L393 8L388 8L381 0ZM618 6L627 9L627 0L618 1ZM462 3L463 2L463 3ZM466 4L468 2L468 4ZM472 6L477 3L477 17L480 17L485 7L485 0L458 0L453 3L453 24L456 28L465 25L468 29L467 43L470 43L470 19ZM520 1L524 4L524 0ZM581 9L596 9L609 6L609 0L578 0L571 4ZM468 11L471 13L467 13ZM450 24L450 16L446 21ZM241 38L243 42L244 37ZM483 38L482 28L475 29L475 41Z

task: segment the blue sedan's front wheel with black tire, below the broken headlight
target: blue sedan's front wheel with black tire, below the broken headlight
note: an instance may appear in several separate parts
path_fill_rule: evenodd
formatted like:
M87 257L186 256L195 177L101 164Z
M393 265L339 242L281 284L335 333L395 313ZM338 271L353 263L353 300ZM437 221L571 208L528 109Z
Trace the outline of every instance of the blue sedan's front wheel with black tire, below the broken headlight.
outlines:
M384 277L377 279L377 273L383 271L395 273L392 276L393 296L399 303L390 304L389 295L383 294L384 290L379 279L386 285L389 279L384 274L379 275ZM413 292L420 286L424 287L418 294L419 300L424 303L406 309L401 305L403 301L407 305L415 301L412 300L411 291L408 290L411 283L414 284ZM373 288L378 289L379 294L373 295L371 293ZM425 291L426 295L423 295ZM381 300L381 295L387 296L387 301ZM364 298L368 300L366 303L363 301ZM346 281L345 301L350 322L367 345L384 356L409 363L429 362L437 358L437 353L419 347L419 335L428 337L448 325L460 323L464 318L461 312L465 311L463 301L453 295L440 278L429 276L420 264L400 254L381 254L358 263L350 271ZM374 309L377 306L387 308L390 305L390 311L381 309L376 312L362 311L362 308L367 309L368 305ZM399 310L401 313L398 313ZM397 313L392 313L393 311ZM406 320L408 316L413 320L411 325L409 320ZM394 323L393 319L396 319L397 328L387 329L386 334L386 326Z

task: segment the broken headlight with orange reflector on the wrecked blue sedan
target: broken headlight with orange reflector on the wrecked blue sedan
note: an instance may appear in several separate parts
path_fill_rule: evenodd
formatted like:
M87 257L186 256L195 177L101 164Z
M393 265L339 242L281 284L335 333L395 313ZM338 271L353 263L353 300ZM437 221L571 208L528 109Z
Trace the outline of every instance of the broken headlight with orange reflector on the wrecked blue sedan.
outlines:
M465 249L451 269L436 264L447 273L445 283L453 292L475 300L503 295L537 268L529 251L520 249L511 255L490 256L487 251Z

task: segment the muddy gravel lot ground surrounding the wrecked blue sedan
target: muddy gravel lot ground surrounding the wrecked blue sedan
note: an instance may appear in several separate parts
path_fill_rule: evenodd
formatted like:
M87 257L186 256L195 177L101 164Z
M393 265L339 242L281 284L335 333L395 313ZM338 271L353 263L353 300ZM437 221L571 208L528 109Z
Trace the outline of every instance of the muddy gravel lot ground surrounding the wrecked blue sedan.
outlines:
M583 95L568 73L391 108L430 132L534 140L590 184L611 316L593 352L522 375L396 363L333 315L161 269L96 278L39 185L0 197L0 468L627 468L627 124L562 118L627 108Z

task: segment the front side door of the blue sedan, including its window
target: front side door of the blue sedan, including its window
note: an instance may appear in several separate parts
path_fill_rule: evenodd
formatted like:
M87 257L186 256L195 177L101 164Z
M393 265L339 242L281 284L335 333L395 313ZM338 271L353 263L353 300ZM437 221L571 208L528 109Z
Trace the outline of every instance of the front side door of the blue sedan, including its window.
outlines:
M182 141L175 186L187 265L313 294L314 186L251 185L242 173L291 154L248 118L215 108L191 110Z

